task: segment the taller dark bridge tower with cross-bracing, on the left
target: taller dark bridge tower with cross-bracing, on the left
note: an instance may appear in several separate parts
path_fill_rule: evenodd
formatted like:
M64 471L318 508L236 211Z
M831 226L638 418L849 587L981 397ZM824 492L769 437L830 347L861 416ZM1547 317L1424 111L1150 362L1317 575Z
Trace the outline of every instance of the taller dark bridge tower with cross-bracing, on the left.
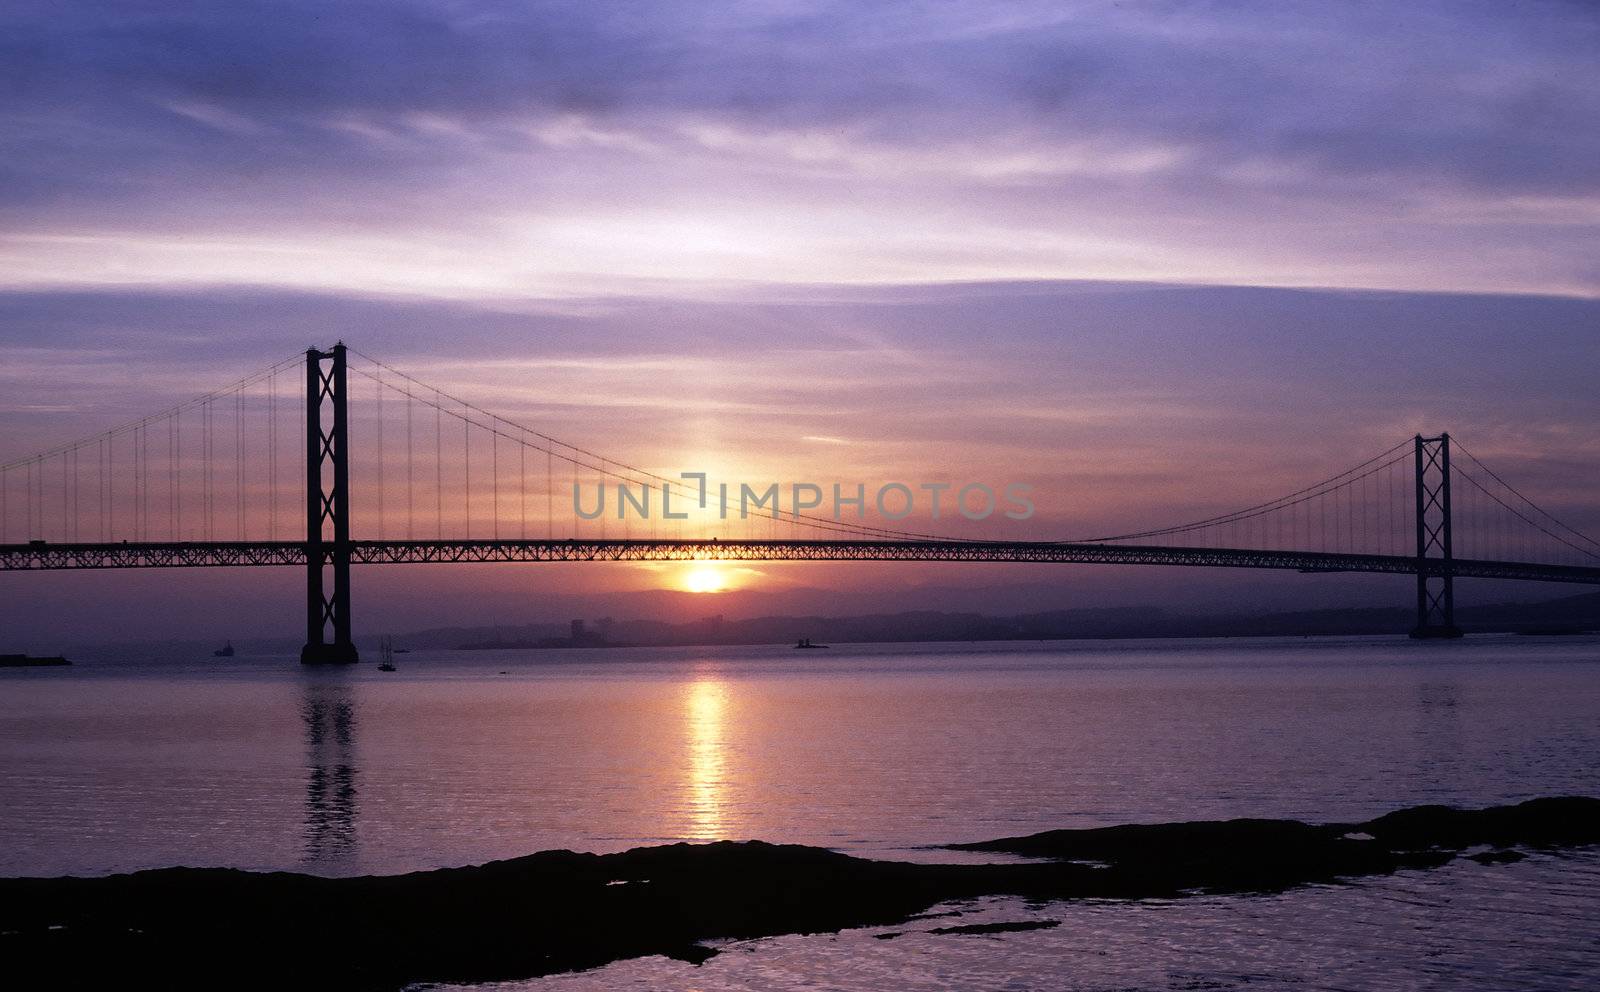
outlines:
M328 365L326 371L323 363ZM302 664L350 664L350 416L344 344L306 352L306 646ZM323 429L323 406L331 426ZM331 478L330 478L331 477ZM328 533L331 530L331 534ZM328 579L331 579L331 587ZM331 640L330 640L331 634Z

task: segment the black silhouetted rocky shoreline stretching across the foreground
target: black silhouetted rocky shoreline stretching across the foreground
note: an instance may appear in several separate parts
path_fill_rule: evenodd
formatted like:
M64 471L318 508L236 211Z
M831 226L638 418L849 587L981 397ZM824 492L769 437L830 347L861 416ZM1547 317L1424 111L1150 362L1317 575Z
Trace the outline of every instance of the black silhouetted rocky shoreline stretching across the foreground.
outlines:
M398 989L510 979L701 941L898 923L944 899L1282 891L1461 854L1600 843L1600 800L1402 810L1362 824L1235 819L1051 830L955 845L1019 864L862 861L760 842L552 851L482 867L317 878L162 869L0 880L11 987ZM1501 858L1502 859L1502 858Z

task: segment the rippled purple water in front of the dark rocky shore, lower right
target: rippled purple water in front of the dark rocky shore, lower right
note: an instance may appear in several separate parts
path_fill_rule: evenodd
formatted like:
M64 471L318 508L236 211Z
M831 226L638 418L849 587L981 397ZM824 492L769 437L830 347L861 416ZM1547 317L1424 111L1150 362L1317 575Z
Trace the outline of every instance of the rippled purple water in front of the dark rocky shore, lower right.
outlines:
M960 917L723 944L478 992L1589 992L1600 976L1600 854L1453 864L1352 886L1174 902L954 902ZM936 926L1051 920L994 936ZM880 934L899 934L890 941Z

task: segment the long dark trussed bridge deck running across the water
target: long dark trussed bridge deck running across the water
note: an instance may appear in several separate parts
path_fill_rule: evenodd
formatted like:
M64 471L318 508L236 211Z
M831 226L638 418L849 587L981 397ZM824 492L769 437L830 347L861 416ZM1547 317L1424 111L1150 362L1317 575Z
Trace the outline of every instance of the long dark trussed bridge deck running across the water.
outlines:
M331 552L328 552L331 554ZM357 565L427 562L1054 562L1416 574L1408 555L1050 541L352 541ZM0 544L0 571L306 565L299 541ZM1437 562L1427 566L1442 574ZM1600 568L1456 558L1456 578L1600 584Z

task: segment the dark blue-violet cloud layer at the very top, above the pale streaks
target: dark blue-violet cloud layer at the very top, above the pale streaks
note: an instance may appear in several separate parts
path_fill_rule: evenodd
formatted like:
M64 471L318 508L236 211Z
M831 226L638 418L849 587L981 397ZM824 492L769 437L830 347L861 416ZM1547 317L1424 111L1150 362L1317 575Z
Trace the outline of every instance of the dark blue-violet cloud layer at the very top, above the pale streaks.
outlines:
M1584 5L1064 10L21 3L8 6L0 72L22 115L142 106L130 131L168 114L210 138L282 126L290 144L318 128L333 144L339 120L493 133L579 114L814 126L901 146L974 130L1178 142L1213 165L1315 160L1518 189L1595 179L1581 154L1595 138L1574 128L1600 101L1600 14ZM168 130L182 134L178 122Z

